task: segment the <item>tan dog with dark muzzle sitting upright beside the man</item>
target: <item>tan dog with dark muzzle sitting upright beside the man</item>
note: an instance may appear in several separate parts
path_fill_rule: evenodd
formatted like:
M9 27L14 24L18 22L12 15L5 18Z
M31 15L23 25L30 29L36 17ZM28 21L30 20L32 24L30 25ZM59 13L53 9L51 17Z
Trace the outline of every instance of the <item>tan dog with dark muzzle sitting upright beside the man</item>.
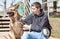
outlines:
M23 34L23 24L21 24L21 16L18 13L18 10L15 7L10 7L7 12L8 16L10 17L10 28L11 32L13 32L15 38L14 39L21 39ZM11 39L13 39L12 35L9 35Z

